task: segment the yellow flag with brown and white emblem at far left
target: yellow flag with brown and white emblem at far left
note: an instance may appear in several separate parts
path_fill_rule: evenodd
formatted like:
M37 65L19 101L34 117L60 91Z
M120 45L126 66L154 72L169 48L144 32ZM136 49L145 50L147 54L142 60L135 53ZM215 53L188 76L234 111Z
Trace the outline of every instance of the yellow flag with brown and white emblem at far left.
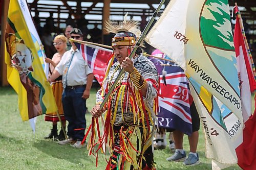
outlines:
M7 79L23 120L57 111L42 65L42 45L25 0L10 0L5 34Z

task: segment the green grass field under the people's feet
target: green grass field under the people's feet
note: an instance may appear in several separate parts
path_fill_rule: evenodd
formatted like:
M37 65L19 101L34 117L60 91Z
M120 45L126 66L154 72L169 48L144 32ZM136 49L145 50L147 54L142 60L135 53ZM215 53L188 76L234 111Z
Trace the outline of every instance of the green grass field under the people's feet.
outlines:
M87 101L89 110L95 104L96 89L92 89ZM0 169L105 169L105 156L99 155L98 167L93 156L88 157L86 148L74 149L70 145L58 145L56 141L45 140L51 129L51 123L45 122L44 115L37 117L36 133L32 132L29 122L23 122L19 116L17 94L11 87L0 87ZM91 115L86 114L87 126ZM60 126L58 125L60 130ZM184 137L184 149L189 152L187 137ZM182 162L168 162L169 149L155 151L157 169L211 169L211 160L205 158L204 136L200 130L198 144L200 164L184 166ZM108 155L106 159L109 159ZM238 165L226 169L241 169Z

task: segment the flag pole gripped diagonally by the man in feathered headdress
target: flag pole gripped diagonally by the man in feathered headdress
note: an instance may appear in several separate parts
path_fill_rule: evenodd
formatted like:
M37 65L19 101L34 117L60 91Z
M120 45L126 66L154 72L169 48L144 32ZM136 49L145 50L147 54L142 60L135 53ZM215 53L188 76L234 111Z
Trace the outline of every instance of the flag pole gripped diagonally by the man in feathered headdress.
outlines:
M140 36L138 42L136 43L136 47L133 48L131 54L129 55L129 58L130 58L130 59L134 56L134 54L135 54L135 52L136 52L138 46L140 45L140 43L142 42L142 40L145 38L145 36L146 36L146 34L147 34L147 31L150 29L150 27L151 27L153 21L155 20L157 14L158 14L160 8L162 7L162 5L164 4L164 2L165 2L165 0L162 0L162 1L160 2L160 4L159 4L159 6L157 7L156 11L154 12L153 16L150 18L150 21L147 22L147 25L146 25L145 29L144 29L143 32L141 33L141 36ZM102 104L100 105L100 110L103 108L103 106L105 105L105 103L108 101L108 99L109 99L109 97L110 97L110 94L111 94L112 91L114 90L114 88L115 88L117 82L119 81L120 77L122 76L123 72L124 72L124 69L122 68L122 69L120 70L120 73L119 73L119 75L117 76L115 82L114 82L113 85L111 86L111 88L110 88L108 94L106 94L106 96L105 96L105 98L104 98Z

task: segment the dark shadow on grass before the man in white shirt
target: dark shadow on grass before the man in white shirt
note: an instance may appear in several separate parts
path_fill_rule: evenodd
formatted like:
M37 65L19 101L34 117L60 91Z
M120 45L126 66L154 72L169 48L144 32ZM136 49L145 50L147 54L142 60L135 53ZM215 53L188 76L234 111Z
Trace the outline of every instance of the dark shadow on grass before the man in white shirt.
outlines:
M72 148L69 144L60 145L52 140L37 140L33 146L49 156L57 159L65 159L76 164L81 162L81 158L83 160L85 157L88 158L88 151L86 148L76 149ZM87 161L93 163L90 159L87 159Z

